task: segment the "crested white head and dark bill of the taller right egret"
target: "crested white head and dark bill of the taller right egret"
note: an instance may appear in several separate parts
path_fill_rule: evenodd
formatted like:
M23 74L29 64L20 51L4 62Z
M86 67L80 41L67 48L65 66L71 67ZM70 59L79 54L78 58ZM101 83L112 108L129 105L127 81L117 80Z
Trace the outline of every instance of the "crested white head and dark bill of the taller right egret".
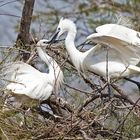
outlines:
M69 19L61 18L57 26L56 32L53 35L51 42L55 42L63 33L70 32L71 34L76 34L76 26L73 21Z

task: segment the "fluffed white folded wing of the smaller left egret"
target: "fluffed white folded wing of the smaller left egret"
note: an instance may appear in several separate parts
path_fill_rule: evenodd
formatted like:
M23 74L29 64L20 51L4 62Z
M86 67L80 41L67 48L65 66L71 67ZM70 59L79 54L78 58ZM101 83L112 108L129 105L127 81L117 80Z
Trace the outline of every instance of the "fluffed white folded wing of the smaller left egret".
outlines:
M41 73L26 63L11 63L6 65L4 70L3 77L7 80L6 89L14 94L46 100L52 93L53 85L49 75Z

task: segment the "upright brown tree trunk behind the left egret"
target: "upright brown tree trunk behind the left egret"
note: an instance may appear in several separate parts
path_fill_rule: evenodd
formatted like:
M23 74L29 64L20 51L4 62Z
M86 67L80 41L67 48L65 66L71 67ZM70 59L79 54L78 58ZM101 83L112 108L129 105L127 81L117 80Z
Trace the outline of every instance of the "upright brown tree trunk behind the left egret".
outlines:
M33 8L35 0L25 0L22 10L22 18L20 22L20 32L17 36L16 47L30 51L30 25L32 20ZM29 58L29 54L22 52L22 59L26 61Z

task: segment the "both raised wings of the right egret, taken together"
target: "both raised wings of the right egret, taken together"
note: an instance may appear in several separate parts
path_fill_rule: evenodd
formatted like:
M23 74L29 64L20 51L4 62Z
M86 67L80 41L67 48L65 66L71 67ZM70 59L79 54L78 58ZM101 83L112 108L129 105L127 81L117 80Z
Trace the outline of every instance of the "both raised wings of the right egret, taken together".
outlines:
M129 64L140 61L140 33L122 25L105 24L96 28L87 39L114 48Z

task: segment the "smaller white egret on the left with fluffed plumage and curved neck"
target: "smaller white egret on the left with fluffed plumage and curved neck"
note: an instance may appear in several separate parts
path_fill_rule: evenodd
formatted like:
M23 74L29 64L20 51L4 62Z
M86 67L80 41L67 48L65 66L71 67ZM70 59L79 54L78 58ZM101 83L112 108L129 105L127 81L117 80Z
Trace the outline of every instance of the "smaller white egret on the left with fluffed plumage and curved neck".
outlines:
M59 65L41 48L47 44L47 40L40 40L37 43L37 52L39 57L48 65L49 73L42 73L20 61L8 64L4 68L4 75L10 75L10 79L7 79L10 83L8 82L6 90L21 103L28 104L31 100L48 99L53 91L58 92L63 81L63 73Z

